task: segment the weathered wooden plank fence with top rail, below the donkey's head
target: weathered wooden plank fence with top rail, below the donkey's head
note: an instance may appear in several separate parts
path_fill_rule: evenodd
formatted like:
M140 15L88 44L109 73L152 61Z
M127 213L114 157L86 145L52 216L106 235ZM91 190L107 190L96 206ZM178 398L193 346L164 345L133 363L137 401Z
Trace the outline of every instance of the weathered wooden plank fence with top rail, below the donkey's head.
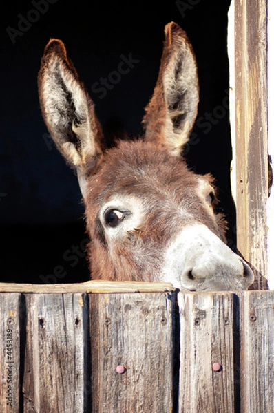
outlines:
M274 412L274 291L0 291L1 413Z

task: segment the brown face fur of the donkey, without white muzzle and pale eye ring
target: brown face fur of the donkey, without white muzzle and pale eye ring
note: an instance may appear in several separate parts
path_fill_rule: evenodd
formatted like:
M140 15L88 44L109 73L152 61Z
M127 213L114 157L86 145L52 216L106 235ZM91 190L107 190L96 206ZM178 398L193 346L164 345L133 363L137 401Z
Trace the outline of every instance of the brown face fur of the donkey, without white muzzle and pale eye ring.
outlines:
M204 207L197 193L197 178L182 158L172 156L162 145L121 141L118 147L107 151L87 187L86 218L91 239L87 251L92 278L156 281L163 248L178 227L183 228L191 220L180 213L182 208L192 215L192 220L207 224L224 240L223 215L212 216ZM211 176L204 179L213 183ZM142 228L128 234L126 241L115 243L112 254L118 260L114 263L98 211L113 193L131 195L133 190L147 200L146 220Z

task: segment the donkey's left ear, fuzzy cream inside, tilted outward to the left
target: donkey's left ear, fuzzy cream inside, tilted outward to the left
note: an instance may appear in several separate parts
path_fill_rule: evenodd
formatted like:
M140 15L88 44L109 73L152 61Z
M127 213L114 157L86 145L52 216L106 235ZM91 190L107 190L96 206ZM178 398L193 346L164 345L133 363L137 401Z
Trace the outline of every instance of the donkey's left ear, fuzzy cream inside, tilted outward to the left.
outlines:
M94 103L59 39L50 39L45 47L38 87L45 124L59 151L76 168L79 181L84 182L103 153L103 133Z

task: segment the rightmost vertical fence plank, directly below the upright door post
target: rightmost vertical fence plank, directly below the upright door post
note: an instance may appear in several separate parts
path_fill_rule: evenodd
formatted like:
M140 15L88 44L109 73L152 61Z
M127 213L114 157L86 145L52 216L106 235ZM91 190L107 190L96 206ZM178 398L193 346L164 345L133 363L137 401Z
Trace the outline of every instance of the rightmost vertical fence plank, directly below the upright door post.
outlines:
M274 412L274 291L240 297L241 412Z

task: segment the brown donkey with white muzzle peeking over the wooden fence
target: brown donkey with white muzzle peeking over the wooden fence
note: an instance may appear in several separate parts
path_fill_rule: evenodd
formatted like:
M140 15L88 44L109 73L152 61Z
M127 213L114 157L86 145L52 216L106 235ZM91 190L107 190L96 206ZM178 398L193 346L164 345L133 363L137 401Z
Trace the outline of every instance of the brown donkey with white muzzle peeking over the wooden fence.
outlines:
M192 291L252 284L251 268L225 243L212 176L197 175L182 157L199 86L192 46L176 23L165 27L141 138L107 147L94 103L59 39L45 47L38 85L48 131L78 176L92 279L171 282Z

